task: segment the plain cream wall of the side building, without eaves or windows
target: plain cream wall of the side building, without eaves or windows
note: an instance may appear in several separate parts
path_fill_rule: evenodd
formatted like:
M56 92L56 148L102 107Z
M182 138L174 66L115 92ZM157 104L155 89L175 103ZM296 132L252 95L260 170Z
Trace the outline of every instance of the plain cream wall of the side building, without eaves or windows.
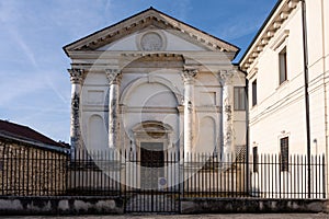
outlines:
M328 27L324 30L322 3L322 0L306 2L310 136L311 141L316 142L311 146L313 154L326 152L324 37ZM306 153L302 30L302 7L298 3L248 71L249 76L256 71L256 76L249 78L250 147L258 146L259 152L279 152L280 138L290 136L290 153ZM279 53L285 46L287 81L280 85ZM258 82L258 104L252 107L251 83L254 79Z

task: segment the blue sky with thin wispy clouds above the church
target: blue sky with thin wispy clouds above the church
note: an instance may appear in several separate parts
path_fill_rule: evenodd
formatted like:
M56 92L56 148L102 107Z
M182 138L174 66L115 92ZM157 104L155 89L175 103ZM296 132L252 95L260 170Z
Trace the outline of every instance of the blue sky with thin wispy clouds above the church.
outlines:
M0 119L69 142L70 60L63 46L150 7L243 55L276 0L0 0Z

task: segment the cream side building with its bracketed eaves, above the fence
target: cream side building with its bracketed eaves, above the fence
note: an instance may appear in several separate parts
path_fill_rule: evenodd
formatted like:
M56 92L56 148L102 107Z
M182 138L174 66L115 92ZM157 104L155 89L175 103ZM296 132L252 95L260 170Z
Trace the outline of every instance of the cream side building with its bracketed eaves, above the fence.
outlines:
M280 154L281 140L286 138L288 155L307 153L306 65L310 154L328 158L329 1L305 0L305 9L306 26L303 25L303 1L279 1L240 61L249 80L250 151L257 147L259 153ZM307 50L303 30L307 33ZM304 61L304 51L308 64Z

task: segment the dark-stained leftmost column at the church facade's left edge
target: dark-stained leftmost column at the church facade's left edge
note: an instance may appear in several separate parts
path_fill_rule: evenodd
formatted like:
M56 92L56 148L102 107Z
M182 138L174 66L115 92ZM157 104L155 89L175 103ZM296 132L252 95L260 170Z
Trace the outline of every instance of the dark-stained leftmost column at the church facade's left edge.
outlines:
M75 158L76 150L82 149L81 129L80 129L80 94L83 81L82 69L68 69L71 80L71 124L70 141L71 158Z

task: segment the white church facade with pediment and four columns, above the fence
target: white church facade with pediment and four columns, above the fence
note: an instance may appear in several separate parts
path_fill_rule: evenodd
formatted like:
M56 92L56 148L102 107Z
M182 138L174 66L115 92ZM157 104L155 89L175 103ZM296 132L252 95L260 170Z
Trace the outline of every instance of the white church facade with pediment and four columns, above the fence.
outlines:
M64 50L71 59L72 152L225 159L246 150L246 76L231 64L236 46L150 8Z

